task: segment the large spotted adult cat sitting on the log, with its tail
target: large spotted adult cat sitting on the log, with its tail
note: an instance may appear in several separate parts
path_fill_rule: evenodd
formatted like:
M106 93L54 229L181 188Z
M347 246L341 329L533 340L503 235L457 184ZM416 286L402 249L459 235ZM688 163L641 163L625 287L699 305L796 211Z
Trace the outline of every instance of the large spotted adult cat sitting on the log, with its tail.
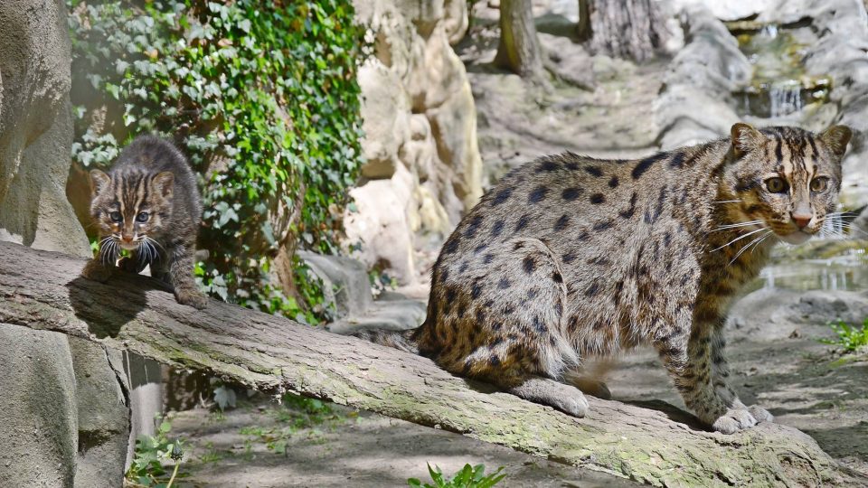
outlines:
M771 420L730 387L723 325L773 243L804 242L835 210L850 136L736 124L638 161L524 164L444 244L425 323L361 335L576 417L588 403L561 381L584 386L581 360L650 343L703 423Z

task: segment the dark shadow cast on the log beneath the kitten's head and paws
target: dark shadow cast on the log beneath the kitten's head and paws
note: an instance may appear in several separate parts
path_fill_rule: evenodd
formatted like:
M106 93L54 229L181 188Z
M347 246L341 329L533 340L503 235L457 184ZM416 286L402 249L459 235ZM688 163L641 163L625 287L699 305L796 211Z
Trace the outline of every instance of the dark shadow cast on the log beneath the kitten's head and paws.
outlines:
M167 290L156 279L119 271L107 283L76 277L66 288L75 316L88 324L90 333L99 339L117 337L121 327L146 308L148 290Z

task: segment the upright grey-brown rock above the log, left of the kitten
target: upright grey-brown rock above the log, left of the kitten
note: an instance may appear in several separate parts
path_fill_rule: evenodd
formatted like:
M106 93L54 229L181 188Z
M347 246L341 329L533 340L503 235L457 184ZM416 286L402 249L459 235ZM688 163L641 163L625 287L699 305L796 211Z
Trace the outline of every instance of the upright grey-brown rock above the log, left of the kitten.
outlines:
M66 199L72 144L66 29L60 1L0 3L0 239L90 257Z

